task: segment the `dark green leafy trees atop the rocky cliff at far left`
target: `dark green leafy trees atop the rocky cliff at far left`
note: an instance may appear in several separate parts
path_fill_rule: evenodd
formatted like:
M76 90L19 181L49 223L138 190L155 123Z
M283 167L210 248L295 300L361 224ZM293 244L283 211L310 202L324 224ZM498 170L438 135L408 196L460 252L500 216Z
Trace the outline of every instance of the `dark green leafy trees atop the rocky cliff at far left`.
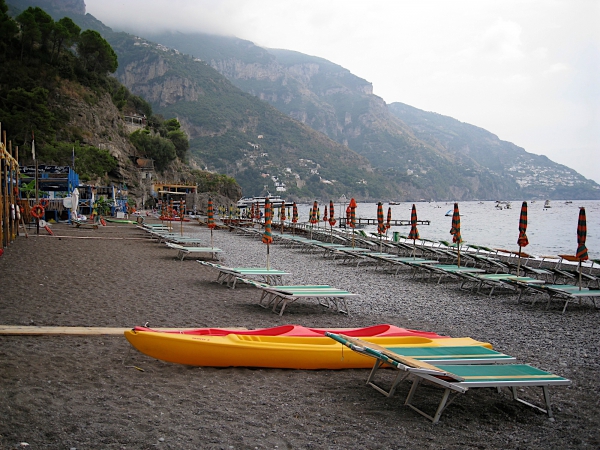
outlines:
M8 140L20 147L24 160L35 138L38 160L70 165L74 152L84 180L105 176L116 168L116 159L77 142L76 132L66 126L68 113L54 98L63 80L80 83L95 96L109 91L113 82L107 75L117 69L116 54L99 33L81 33L68 17L55 22L30 7L13 20L7 11L0 0L0 120Z

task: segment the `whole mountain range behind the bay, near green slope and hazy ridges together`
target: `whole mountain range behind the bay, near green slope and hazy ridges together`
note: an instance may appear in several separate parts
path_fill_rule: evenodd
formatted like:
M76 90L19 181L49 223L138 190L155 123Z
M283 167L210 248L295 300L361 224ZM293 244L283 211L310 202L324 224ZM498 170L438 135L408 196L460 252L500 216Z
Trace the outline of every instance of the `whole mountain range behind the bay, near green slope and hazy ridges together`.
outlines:
M179 119L191 164L234 176L245 194L600 198L593 181L485 130L428 128L420 118L430 113L386 105L369 82L322 58L199 33L142 38L89 14L73 19L113 45L120 81Z

